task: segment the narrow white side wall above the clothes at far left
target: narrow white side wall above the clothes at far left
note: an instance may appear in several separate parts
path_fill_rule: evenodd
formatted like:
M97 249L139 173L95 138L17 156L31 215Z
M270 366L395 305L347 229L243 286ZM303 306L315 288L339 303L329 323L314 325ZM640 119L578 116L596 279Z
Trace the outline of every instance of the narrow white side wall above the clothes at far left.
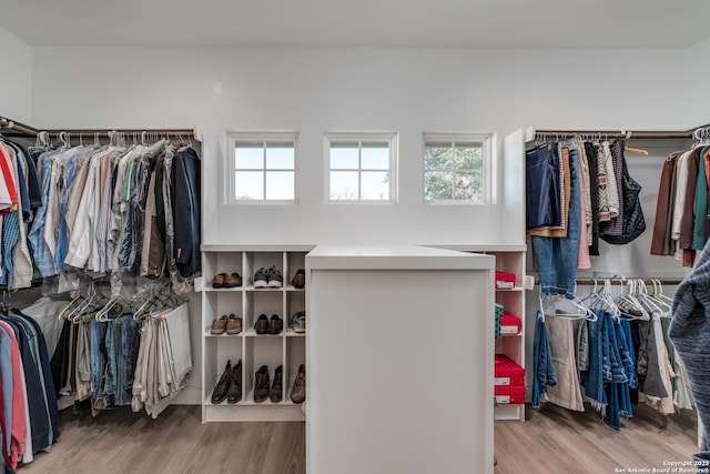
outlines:
M0 27L2 87L0 117L31 124L32 47Z

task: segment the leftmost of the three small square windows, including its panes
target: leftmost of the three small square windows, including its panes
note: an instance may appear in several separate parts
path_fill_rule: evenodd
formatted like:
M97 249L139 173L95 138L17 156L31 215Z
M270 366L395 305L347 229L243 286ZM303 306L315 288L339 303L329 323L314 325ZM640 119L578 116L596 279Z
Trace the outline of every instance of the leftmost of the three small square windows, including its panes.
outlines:
M235 202L296 201L296 133L235 133Z

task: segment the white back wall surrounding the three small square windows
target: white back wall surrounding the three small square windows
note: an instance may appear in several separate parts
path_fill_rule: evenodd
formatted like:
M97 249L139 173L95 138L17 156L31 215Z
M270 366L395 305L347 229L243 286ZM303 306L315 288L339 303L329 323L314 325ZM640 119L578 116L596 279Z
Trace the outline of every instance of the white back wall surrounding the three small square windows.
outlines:
M33 124L199 125L301 132L301 205L224 206L223 168L205 243L521 242L493 206L422 204L422 132L678 129L679 50L34 48ZM323 133L399 132L396 205L323 203ZM220 157L205 157L220 160ZM501 167L499 167L501 168ZM499 185L501 185L499 179ZM507 190L523 192L523 190ZM511 231L515 229L515 231Z

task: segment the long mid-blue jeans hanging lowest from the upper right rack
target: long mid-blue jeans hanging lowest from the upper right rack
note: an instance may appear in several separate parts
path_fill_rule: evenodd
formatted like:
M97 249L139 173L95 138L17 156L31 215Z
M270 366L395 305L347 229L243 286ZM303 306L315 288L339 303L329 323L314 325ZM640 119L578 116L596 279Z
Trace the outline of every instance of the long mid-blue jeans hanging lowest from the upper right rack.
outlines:
M566 238L532 235L532 249L540 274L540 285L545 293L565 294L575 297L575 278L579 253L580 190L579 153L569 151L569 213Z

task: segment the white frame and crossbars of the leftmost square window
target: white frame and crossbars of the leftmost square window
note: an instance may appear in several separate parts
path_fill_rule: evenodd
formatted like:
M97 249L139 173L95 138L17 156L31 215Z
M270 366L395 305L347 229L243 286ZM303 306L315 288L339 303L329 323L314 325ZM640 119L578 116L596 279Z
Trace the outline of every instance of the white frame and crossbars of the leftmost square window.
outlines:
M293 205L298 204L300 202L300 158L298 158L298 139L300 134L295 130L233 130L227 131L227 159L225 161L224 167L224 175L226 181L226 196L225 202L227 204L235 205ZM264 172L264 199L236 199L235 191L235 172L237 171L234 162L234 150L236 149L236 143L239 142L264 142L267 144L268 142L293 142L293 151L294 151L294 163L293 163L293 173L294 173L294 199L285 200L285 199L266 199L266 168L261 169ZM264 167L266 163L264 163ZM251 171L258 171L257 169ZM268 171L292 171L292 170L268 170Z

